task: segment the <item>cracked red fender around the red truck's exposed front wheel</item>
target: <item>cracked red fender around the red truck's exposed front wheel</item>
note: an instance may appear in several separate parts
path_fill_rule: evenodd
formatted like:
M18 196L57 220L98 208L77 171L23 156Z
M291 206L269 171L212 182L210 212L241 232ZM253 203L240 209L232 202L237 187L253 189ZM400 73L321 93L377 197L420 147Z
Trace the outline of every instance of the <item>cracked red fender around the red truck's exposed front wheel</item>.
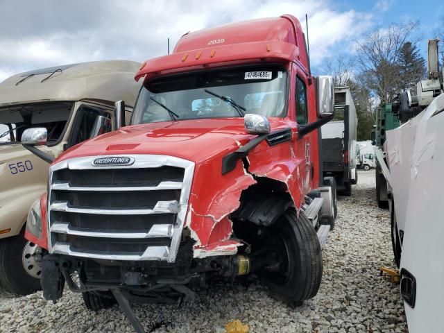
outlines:
M222 159L199 164L189 198L189 213L185 225L196 241L194 257L229 255L237 252L241 241L231 239L232 221L229 214L239 208L242 191L256 184L252 175L283 182L296 207L302 203L302 177L298 160L291 152L290 144L269 147L264 141L248 156L248 171L239 160L236 168L225 175L221 173ZM205 175L205 176L203 176Z

